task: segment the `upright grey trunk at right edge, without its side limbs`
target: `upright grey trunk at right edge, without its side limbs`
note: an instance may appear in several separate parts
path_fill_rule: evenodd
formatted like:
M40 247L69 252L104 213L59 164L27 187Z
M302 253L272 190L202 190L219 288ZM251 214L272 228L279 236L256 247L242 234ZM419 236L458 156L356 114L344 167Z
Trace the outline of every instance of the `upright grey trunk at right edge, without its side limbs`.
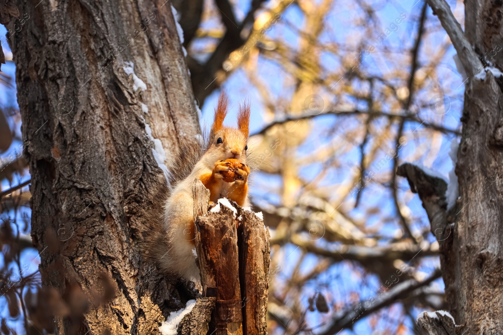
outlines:
M465 35L487 59L501 45L501 2L468 0ZM473 12L475 11L475 12ZM477 13L477 14L475 14ZM487 59L489 60L489 59ZM490 59L503 69L501 53ZM502 78L468 79L465 87L463 132L456 174L452 244L443 252L446 295L457 324L466 335L503 332L503 94Z

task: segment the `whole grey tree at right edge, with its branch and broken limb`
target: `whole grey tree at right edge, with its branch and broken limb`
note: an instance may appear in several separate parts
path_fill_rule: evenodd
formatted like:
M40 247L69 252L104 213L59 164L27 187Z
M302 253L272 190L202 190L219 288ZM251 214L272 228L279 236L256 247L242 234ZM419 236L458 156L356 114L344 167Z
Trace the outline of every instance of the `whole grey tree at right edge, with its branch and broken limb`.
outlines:
M446 211L438 183L425 184L422 171L402 166L399 172L420 194L432 232L440 241L442 274L449 311L458 325L456 333L500 334L503 332L503 79L494 76L487 67L503 69L503 54L498 52L503 3L465 1L464 33L445 0L428 0L428 3L449 34L468 75L455 169L459 183L456 205ZM438 220L442 217L446 221ZM443 229L437 230L439 227ZM427 317L421 323L430 329L427 330L430 334L442 333L438 324L434 324L437 320Z

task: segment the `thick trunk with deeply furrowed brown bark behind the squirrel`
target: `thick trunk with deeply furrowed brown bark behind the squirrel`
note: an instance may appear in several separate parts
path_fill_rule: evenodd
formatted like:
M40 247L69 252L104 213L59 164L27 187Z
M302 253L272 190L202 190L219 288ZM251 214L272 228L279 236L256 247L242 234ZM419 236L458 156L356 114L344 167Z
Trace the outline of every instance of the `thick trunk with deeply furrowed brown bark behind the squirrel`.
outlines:
M145 211L161 205L162 170L185 137L200 133L171 3L16 5L20 18L8 28L22 30L9 43L32 175L32 237L55 331L157 333L194 297L139 248Z

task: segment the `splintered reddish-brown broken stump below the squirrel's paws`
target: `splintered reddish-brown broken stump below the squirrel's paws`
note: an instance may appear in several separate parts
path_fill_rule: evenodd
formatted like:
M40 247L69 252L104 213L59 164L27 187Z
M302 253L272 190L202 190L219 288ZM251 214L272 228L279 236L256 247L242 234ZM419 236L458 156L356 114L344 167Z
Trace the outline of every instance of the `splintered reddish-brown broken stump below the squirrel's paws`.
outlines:
M265 335L269 230L254 212L234 203L233 209L217 204L219 210L208 212L209 191L199 180L193 193L203 296L216 299L208 333Z

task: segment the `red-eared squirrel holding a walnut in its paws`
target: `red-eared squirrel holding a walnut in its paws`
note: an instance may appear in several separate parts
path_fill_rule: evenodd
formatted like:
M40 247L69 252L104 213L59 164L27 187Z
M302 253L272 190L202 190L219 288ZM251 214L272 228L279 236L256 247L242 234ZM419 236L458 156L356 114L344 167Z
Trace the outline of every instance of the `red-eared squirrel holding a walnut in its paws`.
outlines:
M246 164L246 151L250 105L239 105L238 129L223 126L227 108L228 98L222 93L215 108L207 144L204 146L202 141L199 145L192 142L189 147L181 150L178 161L185 165L186 171L181 172L183 167L178 169L177 166L178 175L170 177L171 184L175 185L164 201L162 217L158 215L154 218L157 219L157 224L146 241L147 257L156 263L161 272L193 281L196 285L200 283L200 275L195 262L192 194L194 180L201 180L210 191L212 202L217 202L221 196L225 196L241 207L249 206L247 182L250 168ZM231 165L225 161L229 158L241 163L239 168L232 169L234 178L231 182L226 181L228 178L224 177Z

